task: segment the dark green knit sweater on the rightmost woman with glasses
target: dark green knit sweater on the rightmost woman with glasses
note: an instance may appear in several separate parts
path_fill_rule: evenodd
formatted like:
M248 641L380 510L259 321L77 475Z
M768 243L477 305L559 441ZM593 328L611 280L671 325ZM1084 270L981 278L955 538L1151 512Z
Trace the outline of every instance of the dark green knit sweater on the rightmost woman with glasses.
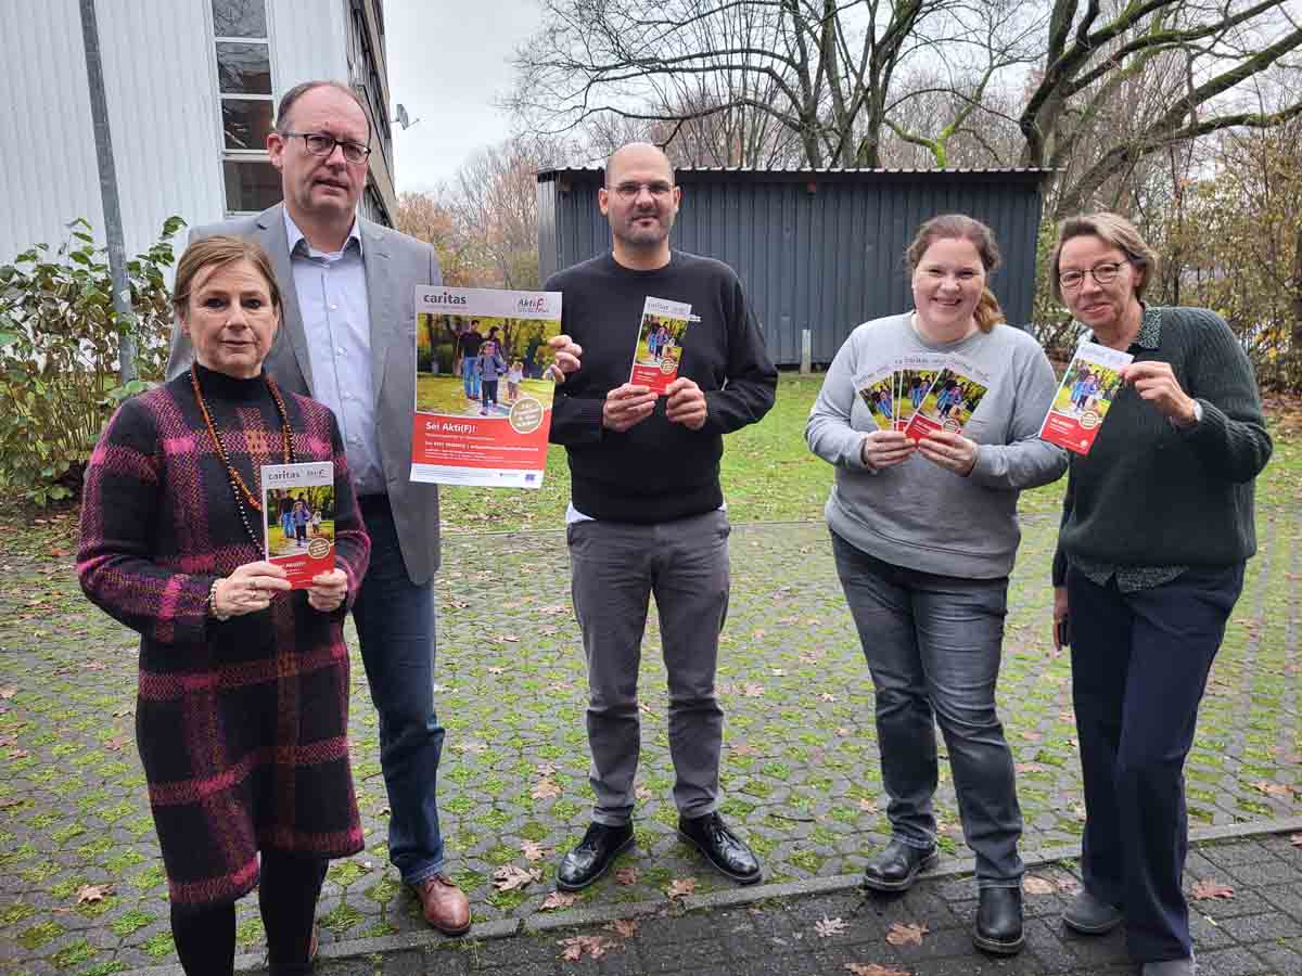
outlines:
M1159 308L1156 349L1203 419L1177 429L1126 385L1094 446L1072 455L1053 584L1066 558L1115 566L1219 566L1256 552L1253 480L1271 457L1253 366L1229 325L1206 308Z

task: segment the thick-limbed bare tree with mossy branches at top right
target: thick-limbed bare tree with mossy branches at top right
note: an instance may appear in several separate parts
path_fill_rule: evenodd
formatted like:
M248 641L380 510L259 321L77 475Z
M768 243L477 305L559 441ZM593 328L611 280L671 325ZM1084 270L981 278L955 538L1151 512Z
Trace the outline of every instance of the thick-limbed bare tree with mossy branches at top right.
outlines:
M1281 0L1052 0L1043 66L1019 118L1021 161L1074 163L1055 212L1091 206L1109 180L1173 144L1302 113L1295 81L1275 104L1245 103L1255 99L1245 83L1299 47L1302 26ZM1152 111L1118 113L1137 86Z

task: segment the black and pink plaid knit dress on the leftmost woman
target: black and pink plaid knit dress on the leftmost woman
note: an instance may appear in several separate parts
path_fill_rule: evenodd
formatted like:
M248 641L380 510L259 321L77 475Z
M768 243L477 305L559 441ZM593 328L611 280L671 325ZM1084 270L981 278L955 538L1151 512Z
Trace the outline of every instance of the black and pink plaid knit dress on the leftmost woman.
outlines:
M227 457L258 491L283 462L281 424L262 377L194 367ZM173 902L230 902L258 884L258 850L342 858L362 850L348 760L344 616L370 539L335 416L285 396L294 461L335 462L333 613L305 591L219 622L217 576L263 558L237 509L189 373L126 401L86 468L77 573L82 590L141 632L135 740ZM245 515L256 534L260 514Z

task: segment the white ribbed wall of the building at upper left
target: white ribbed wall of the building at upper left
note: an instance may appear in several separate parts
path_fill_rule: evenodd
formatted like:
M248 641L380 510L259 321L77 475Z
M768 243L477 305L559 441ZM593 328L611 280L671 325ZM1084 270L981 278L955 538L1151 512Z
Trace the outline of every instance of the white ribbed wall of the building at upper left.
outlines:
M348 77L348 0L267 0L276 99ZM163 221L224 216L211 0L99 0L100 57L126 251ZM86 217L104 239L79 0L4 0L0 262L60 245ZM184 238L180 241L184 245Z

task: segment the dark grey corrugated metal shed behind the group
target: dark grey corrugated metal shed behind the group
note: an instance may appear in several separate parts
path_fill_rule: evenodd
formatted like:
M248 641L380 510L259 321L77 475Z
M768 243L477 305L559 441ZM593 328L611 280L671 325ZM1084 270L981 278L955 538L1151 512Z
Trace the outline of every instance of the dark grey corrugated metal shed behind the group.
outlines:
M993 228L1004 254L993 290L1008 320L1029 321L1043 169L680 169L673 246L741 275L769 355L831 362L855 325L913 306L904 250L937 213ZM603 170L538 174L539 269L547 276L604 252L611 228L596 204Z

